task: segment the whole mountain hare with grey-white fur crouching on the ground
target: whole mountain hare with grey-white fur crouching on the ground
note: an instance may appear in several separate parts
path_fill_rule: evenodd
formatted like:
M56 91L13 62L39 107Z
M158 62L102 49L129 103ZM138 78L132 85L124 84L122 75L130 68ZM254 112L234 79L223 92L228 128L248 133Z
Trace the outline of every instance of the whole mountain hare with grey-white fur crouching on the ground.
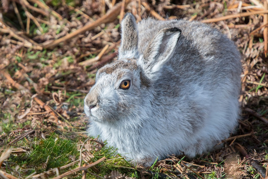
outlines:
M144 19L127 13L118 60L100 68L85 98L89 135L135 163L194 157L237 125L240 53L200 22Z

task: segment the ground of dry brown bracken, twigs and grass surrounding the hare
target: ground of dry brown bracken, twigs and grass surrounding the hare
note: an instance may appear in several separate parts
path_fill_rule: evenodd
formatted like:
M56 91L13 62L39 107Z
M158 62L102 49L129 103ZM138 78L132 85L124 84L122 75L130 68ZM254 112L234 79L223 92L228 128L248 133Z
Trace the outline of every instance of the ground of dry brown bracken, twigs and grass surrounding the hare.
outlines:
M268 178L266 0L1 0L0 178ZM243 58L236 133L209 154L149 168L87 136L83 99L96 70L116 59L120 21L209 23Z

